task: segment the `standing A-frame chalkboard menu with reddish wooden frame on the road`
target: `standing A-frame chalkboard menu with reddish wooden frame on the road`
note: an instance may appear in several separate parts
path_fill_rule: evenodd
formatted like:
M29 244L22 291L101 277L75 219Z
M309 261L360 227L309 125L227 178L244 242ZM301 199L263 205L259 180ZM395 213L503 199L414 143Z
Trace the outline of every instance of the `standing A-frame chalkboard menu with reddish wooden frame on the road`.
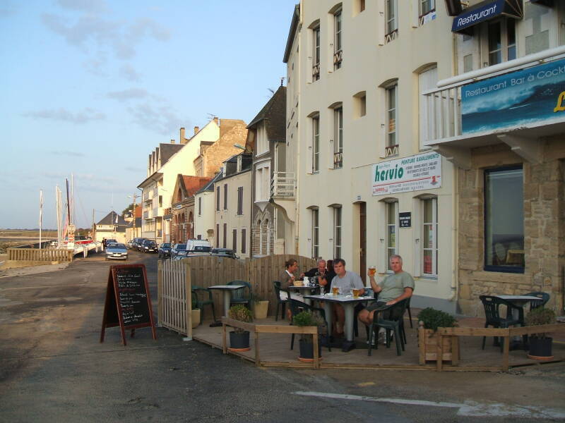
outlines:
M157 338L147 273L143 264L110 266L100 342L104 342L106 328L114 326L120 326L124 345L126 329L131 329L133 338L135 329L150 326L153 339Z

